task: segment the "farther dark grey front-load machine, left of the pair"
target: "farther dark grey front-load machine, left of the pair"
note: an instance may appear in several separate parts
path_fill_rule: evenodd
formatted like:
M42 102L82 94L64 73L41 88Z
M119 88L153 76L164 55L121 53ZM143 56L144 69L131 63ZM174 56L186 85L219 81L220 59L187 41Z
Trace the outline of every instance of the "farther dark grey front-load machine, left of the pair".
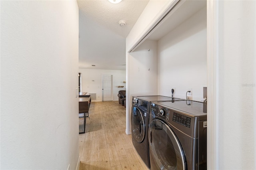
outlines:
M150 102L170 100L174 101L180 99L160 95L132 97L132 143L144 163L148 166L148 168L150 168L148 150L148 123Z

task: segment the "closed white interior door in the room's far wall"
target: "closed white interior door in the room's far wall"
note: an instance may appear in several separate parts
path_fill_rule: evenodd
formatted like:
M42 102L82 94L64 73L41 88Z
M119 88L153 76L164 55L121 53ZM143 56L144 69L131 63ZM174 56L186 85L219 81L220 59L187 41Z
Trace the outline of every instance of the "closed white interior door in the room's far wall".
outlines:
M112 101L112 75L102 75L102 101Z

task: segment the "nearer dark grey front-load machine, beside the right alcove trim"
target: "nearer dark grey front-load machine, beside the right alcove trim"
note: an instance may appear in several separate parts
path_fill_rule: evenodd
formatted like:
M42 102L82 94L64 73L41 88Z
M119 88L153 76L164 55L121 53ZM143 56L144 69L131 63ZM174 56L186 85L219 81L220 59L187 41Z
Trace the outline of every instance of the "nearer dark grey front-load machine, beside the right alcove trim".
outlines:
M196 101L150 104L152 170L206 170L207 105Z

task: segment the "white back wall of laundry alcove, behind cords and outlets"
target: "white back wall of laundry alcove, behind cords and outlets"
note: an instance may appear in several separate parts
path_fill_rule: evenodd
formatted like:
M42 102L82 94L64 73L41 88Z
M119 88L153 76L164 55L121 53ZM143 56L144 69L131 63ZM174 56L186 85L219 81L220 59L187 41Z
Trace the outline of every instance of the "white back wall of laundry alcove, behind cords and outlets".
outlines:
M158 41L158 95L202 101L207 87L206 7Z

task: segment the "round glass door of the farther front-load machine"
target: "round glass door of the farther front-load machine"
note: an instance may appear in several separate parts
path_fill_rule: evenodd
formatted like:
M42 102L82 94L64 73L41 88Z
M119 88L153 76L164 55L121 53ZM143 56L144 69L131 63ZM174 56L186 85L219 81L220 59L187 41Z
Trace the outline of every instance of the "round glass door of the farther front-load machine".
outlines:
M136 106L132 109L131 114L132 136L137 142L142 142L145 138L146 125L140 109Z

